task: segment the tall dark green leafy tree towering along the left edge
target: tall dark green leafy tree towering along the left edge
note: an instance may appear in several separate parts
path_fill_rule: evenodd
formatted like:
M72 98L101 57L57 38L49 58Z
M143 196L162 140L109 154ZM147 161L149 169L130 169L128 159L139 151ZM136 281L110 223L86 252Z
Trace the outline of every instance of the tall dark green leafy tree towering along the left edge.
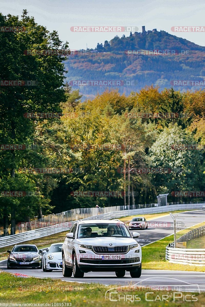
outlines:
M67 49L68 44L60 41L57 32L49 33L45 27L37 25L33 17L29 17L24 10L22 19L18 16L0 14L0 23L4 26L23 27L23 31L0 32L2 48L0 56L1 80L34 80L35 86L6 86L1 87L0 115L4 121L0 123L1 144L23 144L24 150L1 151L1 188L2 191L36 191L37 185L25 174L18 173L23 162L30 165L31 156L35 156L28 146L33 144L34 125L25 118L27 112L57 112L59 103L65 101L64 65L62 56L49 56L34 52L26 55L24 50ZM1 84L2 85L2 84ZM51 95L52 93L52 95ZM5 190L6 189L6 190ZM11 218L11 234L15 233L16 212L25 202L25 197L10 197L5 202L1 197L3 207L4 227L7 219ZM32 197L31 197L32 198ZM28 201L28 200L27 200ZM33 198L31 205L39 204L42 198ZM26 206L27 208L27 206ZM26 209L25 209L26 212Z

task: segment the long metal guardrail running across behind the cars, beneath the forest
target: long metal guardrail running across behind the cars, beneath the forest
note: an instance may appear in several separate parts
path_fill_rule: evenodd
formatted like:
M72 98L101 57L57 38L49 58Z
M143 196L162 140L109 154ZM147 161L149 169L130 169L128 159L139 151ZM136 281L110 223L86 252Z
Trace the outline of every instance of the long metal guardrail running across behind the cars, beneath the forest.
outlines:
M155 207L155 208L143 208L143 209L123 210L123 211L118 211L118 212L108 212L108 213L104 213L101 215L88 217L83 220L95 220L95 219L96 220L97 219L111 220L111 219L119 218L122 216L129 216L129 215L169 212L169 211L184 210L184 209L202 209L202 208L205 208L205 204L195 204L194 206L193 204L180 204L180 205L171 205L171 206L161 206L161 207ZM60 223L60 224L45 227L45 228L26 231L23 233L19 233L17 235L10 235L6 237L2 237L0 238L0 248L69 230L75 222L76 221Z

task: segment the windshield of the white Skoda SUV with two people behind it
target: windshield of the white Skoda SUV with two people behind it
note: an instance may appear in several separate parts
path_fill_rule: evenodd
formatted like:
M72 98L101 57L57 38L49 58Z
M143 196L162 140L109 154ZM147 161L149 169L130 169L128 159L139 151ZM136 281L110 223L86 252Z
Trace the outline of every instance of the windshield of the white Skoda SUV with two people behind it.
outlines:
M124 224L95 223L81 224L78 228L78 239L103 238L103 237L131 238L128 229Z

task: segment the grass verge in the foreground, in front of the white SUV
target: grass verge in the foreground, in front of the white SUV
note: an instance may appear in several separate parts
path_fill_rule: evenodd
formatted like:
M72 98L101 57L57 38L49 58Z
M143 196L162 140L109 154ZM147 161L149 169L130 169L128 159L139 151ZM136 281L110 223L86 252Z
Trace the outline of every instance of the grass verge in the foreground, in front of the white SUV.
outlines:
M132 279L133 283L138 281L138 278ZM106 291L114 287L117 286L104 286L95 283L71 283L51 278L22 278L16 277L14 274L5 272L0 273L0 301L1 303L8 304L7 306L9 306L10 303L21 303L22 307L24 306L22 304L29 303L33 304L33 306L38 306L38 304L44 304L44 306L46 306L45 304L47 303L47 306L51 304L50 306L52 307L104 307L106 304L113 307L117 307L119 304L122 307L128 305L138 307L165 307L168 306L168 303L170 303L170 306L182 306L183 304L183 307L198 307L205 305L204 293L191 293L191 295L194 295L194 300L197 299L197 301L183 301L183 298L177 298L174 301L173 291L150 289L141 291L136 288L134 288L133 291L133 287L129 287L128 285L124 288L118 286L118 289L110 290L105 299ZM124 291L122 292L122 290ZM147 300L146 292L149 292ZM163 294L167 296L166 301L161 301ZM153 301L148 302L148 300ZM56 304L54 305L54 303Z

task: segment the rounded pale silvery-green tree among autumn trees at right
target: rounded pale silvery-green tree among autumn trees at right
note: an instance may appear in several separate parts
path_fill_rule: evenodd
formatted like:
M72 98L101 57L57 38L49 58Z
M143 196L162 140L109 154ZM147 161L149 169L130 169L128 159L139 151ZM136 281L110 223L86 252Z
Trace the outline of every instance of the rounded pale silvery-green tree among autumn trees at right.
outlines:
M177 150L181 144L193 144L193 136L176 123L170 123L149 149L151 167L171 169L170 173L152 174L157 193L200 191L204 186L202 153L199 150Z

